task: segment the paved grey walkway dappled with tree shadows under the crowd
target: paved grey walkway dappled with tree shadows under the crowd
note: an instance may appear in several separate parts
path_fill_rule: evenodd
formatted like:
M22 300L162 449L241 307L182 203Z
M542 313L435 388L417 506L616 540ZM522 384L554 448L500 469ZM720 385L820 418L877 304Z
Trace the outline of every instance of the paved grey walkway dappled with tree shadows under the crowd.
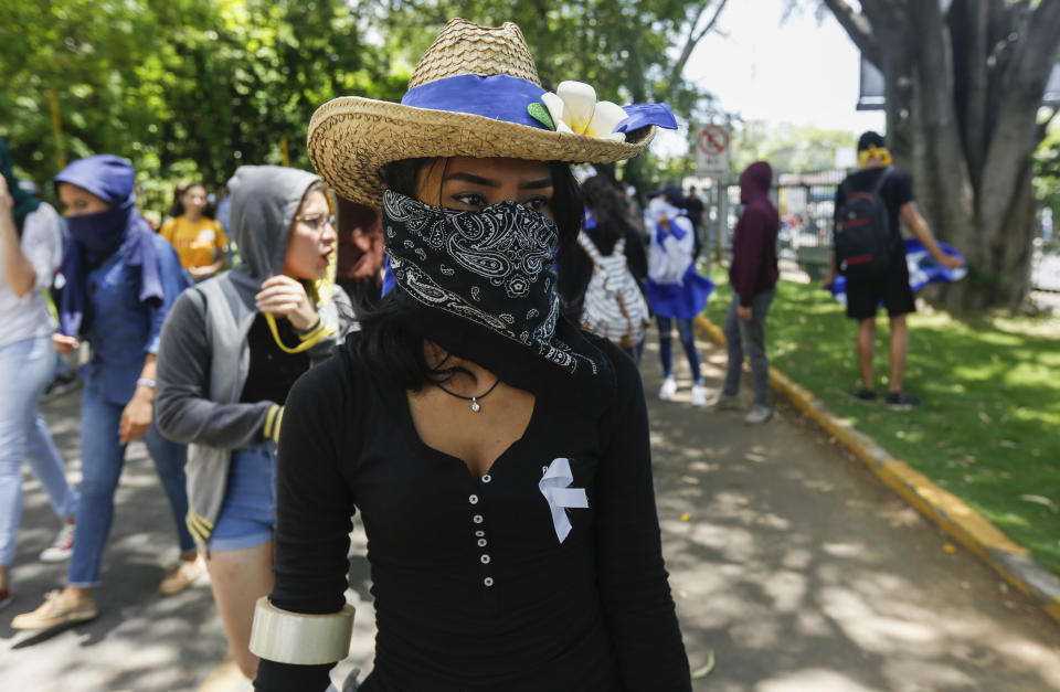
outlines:
M724 355L701 348L717 387ZM643 372L670 583L692 668L713 661L697 690L1060 690L1060 628L973 555L947 547L793 409L781 405L774 420L752 428L738 413L692 408L687 370L678 373L679 401L659 402L650 344ZM75 480L77 396L46 407ZM13 632L12 615L35 607L64 574L64 565L35 562L57 522L35 481L28 477L25 488L18 600L0 615L0 690L250 690L223 662L209 588L156 594L177 550L140 445L121 479L100 617L50 638ZM354 539L363 555L363 534ZM363 557L352 571L358 616L342 672L368 670L372 659Z

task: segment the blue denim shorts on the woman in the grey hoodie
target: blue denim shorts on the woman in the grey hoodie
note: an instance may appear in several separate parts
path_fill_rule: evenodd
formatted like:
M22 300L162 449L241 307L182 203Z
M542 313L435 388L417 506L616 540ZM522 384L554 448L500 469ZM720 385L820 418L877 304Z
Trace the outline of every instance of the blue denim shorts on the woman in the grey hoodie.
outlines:
M268 543L276 529L276 451L263 443L232 453L211 551L239 551Z

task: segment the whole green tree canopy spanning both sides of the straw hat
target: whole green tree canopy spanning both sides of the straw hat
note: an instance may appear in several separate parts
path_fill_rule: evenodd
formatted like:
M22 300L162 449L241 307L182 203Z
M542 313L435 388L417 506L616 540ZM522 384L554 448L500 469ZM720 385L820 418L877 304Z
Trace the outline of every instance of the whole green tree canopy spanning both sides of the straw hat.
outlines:
M339 95L396 100L456 15L517 22L547 87L577 79L601 98L695 116L711 106L683 67L725 2L4 2L0 135L39 183L78 157L127 157L161 207L169 181L216 184L241 163L279 163L283 141L290 164L308 168L314 109Z

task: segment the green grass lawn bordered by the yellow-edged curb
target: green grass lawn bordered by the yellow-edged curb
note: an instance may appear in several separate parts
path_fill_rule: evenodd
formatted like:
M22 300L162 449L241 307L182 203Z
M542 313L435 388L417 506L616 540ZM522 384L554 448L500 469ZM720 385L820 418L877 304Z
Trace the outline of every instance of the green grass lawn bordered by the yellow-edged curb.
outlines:
M724 321L731 290L707 306ZM877 326L877 391L887 390L887 315ZM892 412L849 397L860 387L855 324L819 284L781 281L770 310L770 361L902 459L978 510L1060 575L1060 319L909 318L905 390Z

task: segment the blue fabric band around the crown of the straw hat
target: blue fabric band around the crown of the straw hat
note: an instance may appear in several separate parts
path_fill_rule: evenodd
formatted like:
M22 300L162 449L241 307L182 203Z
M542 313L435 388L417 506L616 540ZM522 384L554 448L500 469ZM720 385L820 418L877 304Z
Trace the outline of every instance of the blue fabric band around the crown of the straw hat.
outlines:
M466 113L490 120L526 125L548 130L534 120L527 106L541 100L544 94L537 84L510 75L458 75L435 79L413 87L401 99L403 106Z

